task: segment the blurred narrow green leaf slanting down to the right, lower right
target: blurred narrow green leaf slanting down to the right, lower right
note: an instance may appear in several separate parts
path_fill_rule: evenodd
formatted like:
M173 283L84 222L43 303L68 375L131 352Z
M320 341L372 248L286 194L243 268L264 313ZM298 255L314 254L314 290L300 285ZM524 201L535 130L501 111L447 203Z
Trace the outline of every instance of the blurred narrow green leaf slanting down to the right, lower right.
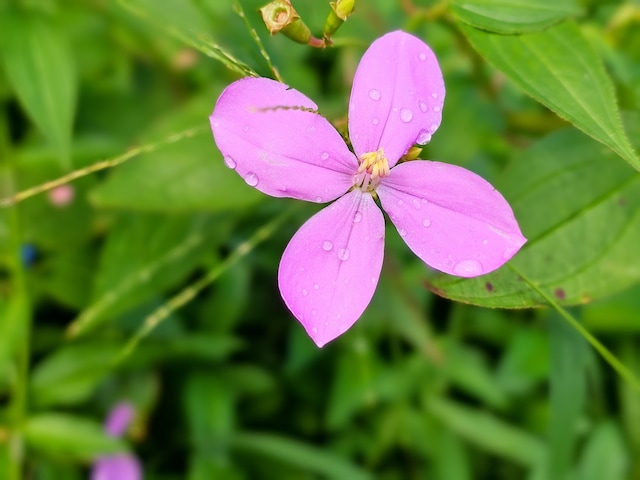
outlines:
M528 467L544 461L542 441L489 413L436 397L427 406L438 420L479 448Z

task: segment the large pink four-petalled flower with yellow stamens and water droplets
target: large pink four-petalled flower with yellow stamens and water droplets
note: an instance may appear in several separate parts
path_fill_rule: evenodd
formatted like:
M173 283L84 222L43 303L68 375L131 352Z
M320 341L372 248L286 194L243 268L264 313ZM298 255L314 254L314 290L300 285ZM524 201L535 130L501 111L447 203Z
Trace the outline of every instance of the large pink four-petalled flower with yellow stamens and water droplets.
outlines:
M454 165L398 164L438 129L444 82L431 49L396 31L366 51L353 80L355 154L303 94L265 78L229 85L211 127L225 163L274 196L329 202L293 236L278 272L287 307L322 347L362 315L378 283L389 215L427 265L461 277L503 265L526 242L488 182Z

